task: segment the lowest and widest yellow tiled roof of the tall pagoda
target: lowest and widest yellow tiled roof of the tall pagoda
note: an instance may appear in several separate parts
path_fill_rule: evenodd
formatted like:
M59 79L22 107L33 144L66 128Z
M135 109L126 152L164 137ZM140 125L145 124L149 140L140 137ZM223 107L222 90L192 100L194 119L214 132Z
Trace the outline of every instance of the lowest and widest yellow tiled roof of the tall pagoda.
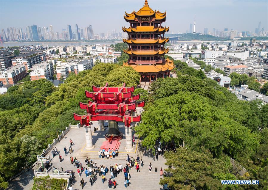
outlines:
M130 66L139 73L157 73L160 71L172 70L175 68L174 63L170 59L166 59L164 64L155 64L155 65L129 65L127 62L123 62L123 66Z

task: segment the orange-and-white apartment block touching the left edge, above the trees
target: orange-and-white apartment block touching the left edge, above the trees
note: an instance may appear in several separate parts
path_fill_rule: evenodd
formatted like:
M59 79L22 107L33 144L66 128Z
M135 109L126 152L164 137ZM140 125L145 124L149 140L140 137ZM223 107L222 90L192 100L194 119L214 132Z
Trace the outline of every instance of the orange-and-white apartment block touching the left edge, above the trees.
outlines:
M6 71L0 72L0 81L3 84L16 84L26 76L27 72L24 65L13 66Z

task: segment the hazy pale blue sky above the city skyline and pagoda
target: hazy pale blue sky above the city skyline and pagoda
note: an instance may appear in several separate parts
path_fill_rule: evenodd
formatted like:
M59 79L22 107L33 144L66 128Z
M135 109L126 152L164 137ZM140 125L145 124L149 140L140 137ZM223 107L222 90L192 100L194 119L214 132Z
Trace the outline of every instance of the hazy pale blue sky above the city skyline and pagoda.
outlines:
M152 1L148 0L153 10L167 11L164 26L170 26L170 33L189 31L190 23L196 15L196 32L204 28L238 31L252 31L258 27L267 30L267 0L266 1ZM116 29L122 32L122 26L129 26L123 15L134 10L138 11L144 1L10 1L0 0L0 28L22 27L36 24L43 27L53 26L54 32L61 32L66 24L74 28L78 24L83 28L91 24L94 33Z

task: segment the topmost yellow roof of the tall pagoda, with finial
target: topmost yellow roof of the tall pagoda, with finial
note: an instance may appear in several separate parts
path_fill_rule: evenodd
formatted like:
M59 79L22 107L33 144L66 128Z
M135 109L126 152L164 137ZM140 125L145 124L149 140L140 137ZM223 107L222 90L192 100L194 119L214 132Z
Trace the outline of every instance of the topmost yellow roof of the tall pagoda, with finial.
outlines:
M163 20L166 18L166 12L162 13L159 12L159 10L152 10L148 5L147 0L145 0L145 4L142 8L140 8L140 10L138 10L137 12L134 10L131 13L126 13L124 15L124 18L126 21L134 21L137 19L136 16L153 16L155 20Z

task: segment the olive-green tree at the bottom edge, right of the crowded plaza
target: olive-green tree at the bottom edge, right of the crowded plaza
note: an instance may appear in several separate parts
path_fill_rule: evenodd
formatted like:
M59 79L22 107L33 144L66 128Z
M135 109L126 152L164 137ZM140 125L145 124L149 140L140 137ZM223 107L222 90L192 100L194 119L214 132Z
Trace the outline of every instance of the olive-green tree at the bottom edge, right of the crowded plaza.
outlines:
M168 184L171 189L225 189L220 180L236 179L230 174L230 161L216 159L205 150L200 153L189 148L178 148L176 153L166 152L167 159L164 178L160 184ZM224 178L227 179L227 178Z

